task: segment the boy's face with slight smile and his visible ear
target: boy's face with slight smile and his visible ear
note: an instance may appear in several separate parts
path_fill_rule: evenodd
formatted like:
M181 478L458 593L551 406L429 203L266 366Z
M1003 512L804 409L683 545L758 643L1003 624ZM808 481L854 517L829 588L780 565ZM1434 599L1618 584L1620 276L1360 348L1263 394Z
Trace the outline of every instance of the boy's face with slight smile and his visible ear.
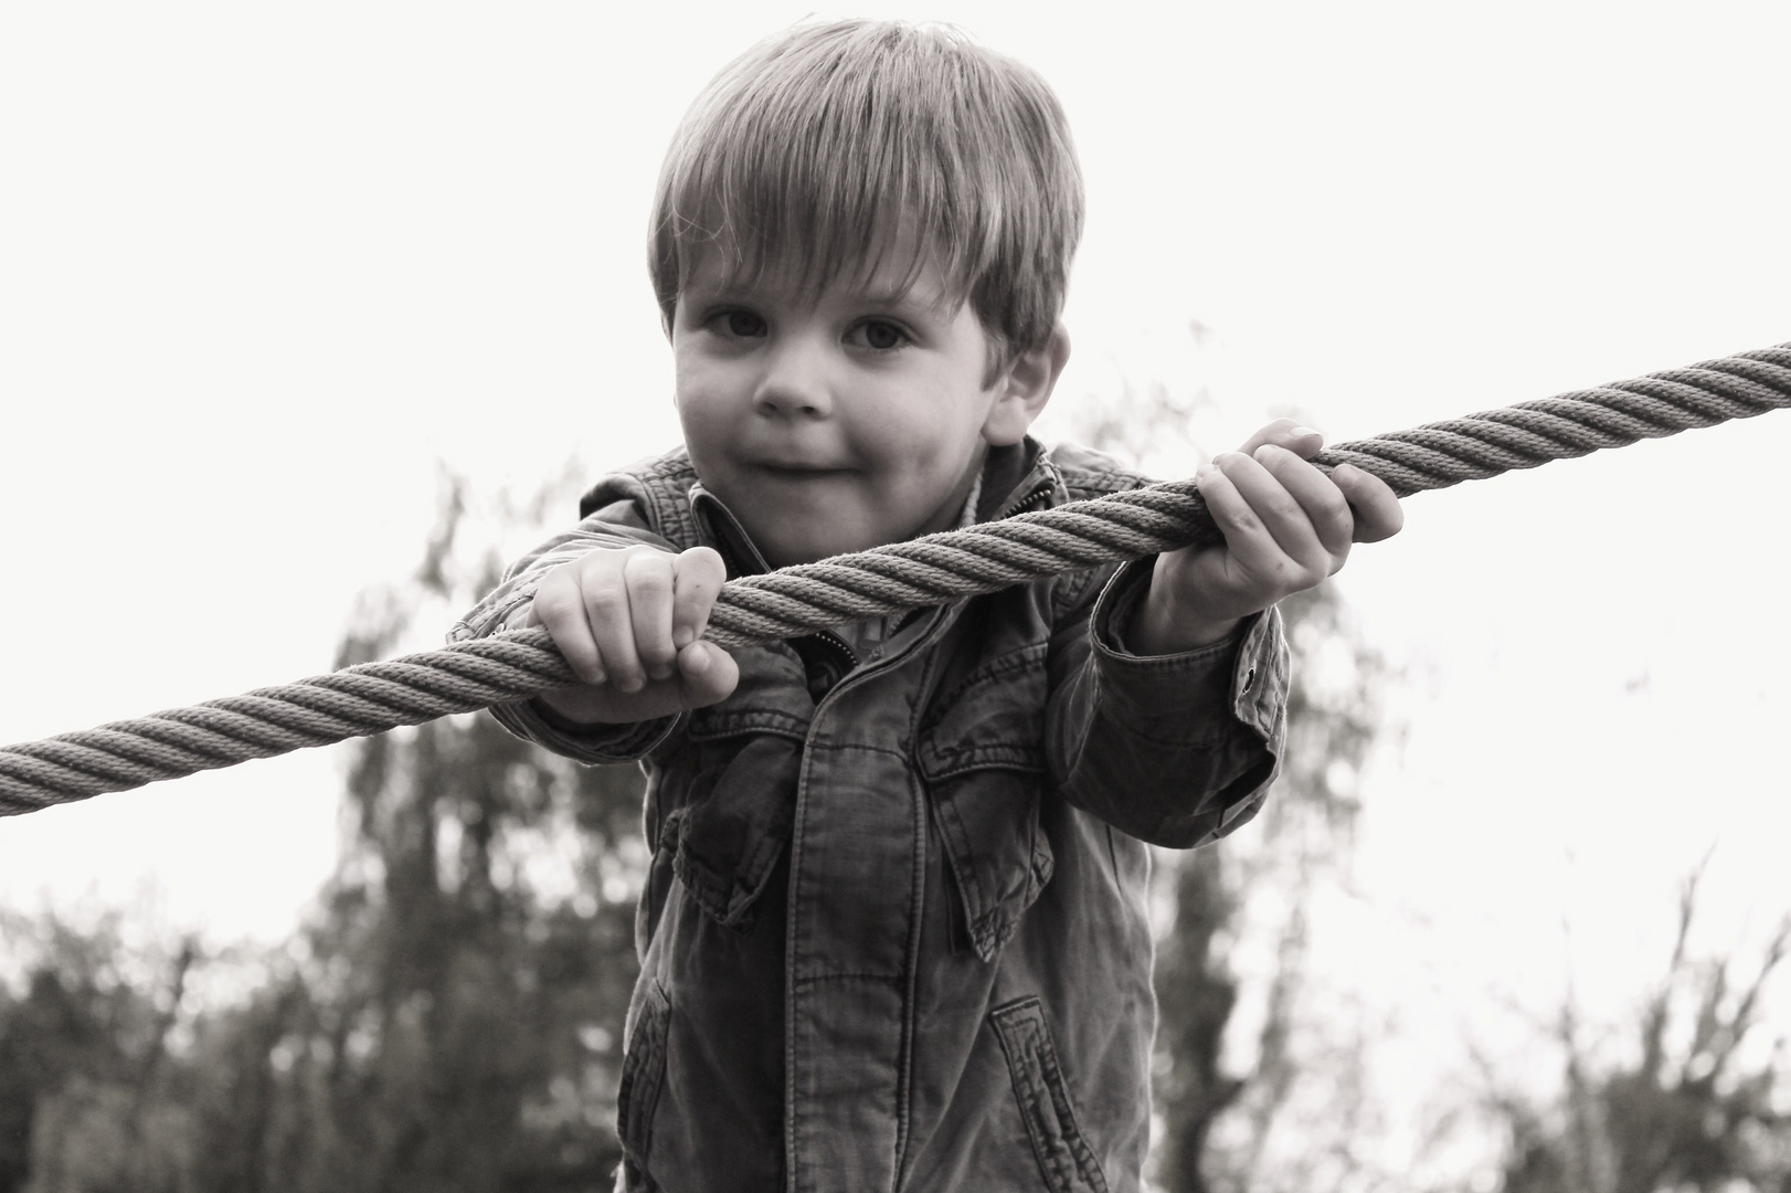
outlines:
M990 382L981 322L940 303L931 265L906 290L903 269L858 272L813 294L777 269L722 285L706 260L673 313L697 475L774 568L955 527L983 451L1024 435L1067 355Z

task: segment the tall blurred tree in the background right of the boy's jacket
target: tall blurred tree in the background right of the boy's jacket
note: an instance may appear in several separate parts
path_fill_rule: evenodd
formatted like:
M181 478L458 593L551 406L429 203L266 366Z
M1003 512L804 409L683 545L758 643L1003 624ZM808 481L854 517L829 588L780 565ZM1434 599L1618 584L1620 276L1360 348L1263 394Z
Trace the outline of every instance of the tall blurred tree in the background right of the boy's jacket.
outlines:
M1209 339L1191 324L1191 346ZM1191 426L1213 408L1202 383L1121 380L1085 399L1073 435L1153 471L1193 471ZM1359 1041L1320 1023L1307 991L1307 921L1316 888L1347 874L1356 776L1384 733L1377 691L1388 668L1361 641L1331 584L1281 604L1293 648L1288 749L1257 819L1191 853L1157 851L1153 1180L1170 1193L1325 1188L1350 1168ZM1239 949L1270 958L1241 982ZM1327 1010L1336 1010L1329 1007ZM1306 1091L1322 1093L1302 1098ZM1302 1102L1322 1116L1290 1111ZM1300 1132L1286 1148L1275 1134Z

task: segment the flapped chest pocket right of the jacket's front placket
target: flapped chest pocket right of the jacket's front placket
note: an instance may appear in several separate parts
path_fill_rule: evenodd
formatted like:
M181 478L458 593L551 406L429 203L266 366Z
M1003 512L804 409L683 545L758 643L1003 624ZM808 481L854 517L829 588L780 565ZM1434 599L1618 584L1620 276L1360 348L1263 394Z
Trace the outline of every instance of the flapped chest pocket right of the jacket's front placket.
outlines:
M1044 652L1037 643L976 668L935 702L915 747L965 935L981 960L994 960L1051 880L1051 845L1039 829Z

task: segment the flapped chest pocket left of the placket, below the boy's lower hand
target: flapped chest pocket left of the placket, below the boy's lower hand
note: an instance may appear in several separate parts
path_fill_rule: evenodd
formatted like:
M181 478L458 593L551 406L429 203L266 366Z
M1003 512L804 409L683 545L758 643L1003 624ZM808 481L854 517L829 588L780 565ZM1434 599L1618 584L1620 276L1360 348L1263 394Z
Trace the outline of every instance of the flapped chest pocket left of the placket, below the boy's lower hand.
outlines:
M813 700L802 665L783 648L741 650L740 686L697 709L661 783L659 858L697 906L727 928L752 905L790 840L802 742Z

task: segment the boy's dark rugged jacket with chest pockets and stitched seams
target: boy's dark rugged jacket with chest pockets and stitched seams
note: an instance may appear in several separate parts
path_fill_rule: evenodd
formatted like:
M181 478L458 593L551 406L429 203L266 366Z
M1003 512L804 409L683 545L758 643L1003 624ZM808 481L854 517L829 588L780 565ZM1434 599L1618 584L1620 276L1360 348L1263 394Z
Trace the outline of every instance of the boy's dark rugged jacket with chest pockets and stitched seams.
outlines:
M1137 484L1028 439L990 451L976 516ZM580 512L455 636L501 629L593 548L707 543L731 573L763 568L682 450ZM1288 690L1275 611L1200 650L1127 652L1148 562L910 614L865 659L835 634L738 650L736 691L675 718L493 709L648 776L618 1188L1139 1188L1146 842L1255 813Z

